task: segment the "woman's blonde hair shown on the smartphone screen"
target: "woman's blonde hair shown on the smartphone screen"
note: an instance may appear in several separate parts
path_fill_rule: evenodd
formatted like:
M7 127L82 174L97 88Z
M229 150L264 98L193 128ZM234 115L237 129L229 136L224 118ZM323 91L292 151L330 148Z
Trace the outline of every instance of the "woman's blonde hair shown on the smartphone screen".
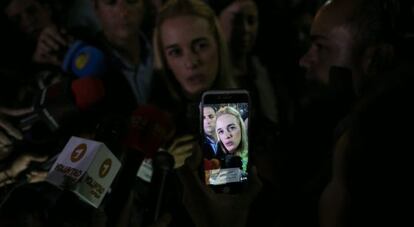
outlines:
M220 116L223 116L225 114L233 115L239 122L240 131L241 131L241 141L240 141L239 146L236 149L235 154L242 158L243 169L245 170L246 169L245 164L247 164L247 156L248 156L248 134L247 134L246 125L244 124L244 121L240 115L240 112L230 106L222 107L216 112L216 121L219 119ZM218 141L219 141L219 144L222 150L227 151L227 149L225 148L225 146L220 140L217 130L216 130L216 134L217 134L217 138L218 138Z

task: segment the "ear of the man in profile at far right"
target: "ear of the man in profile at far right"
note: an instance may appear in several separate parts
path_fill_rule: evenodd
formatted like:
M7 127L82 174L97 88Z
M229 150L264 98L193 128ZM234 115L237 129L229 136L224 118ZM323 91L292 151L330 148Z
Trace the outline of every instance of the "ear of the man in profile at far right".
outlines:
M394 52L394 47L388 43L368 47L362 59L364 74L376 74L383 69L389 68L394 61Z

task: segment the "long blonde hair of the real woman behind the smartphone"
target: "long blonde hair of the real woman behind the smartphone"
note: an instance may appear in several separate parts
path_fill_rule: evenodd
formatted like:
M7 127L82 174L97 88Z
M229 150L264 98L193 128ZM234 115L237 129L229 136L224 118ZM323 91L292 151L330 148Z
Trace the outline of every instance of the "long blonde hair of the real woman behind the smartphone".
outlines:
M177 96L176 98L178 98L177 91L181 89L178 82L175 80L174 75L172 75L172 72L168 69L167 61L162 49L160 28L165 20L183 15L206 19L215 41L217 42L219 69L213 84L214 89L235 88L236 86L232 78L227 43L214 11L201 0L169 0L163 5L158 13L154 29L153 46L155 70L165 75L164 78L166 79L167 86L172 95L175 95Z

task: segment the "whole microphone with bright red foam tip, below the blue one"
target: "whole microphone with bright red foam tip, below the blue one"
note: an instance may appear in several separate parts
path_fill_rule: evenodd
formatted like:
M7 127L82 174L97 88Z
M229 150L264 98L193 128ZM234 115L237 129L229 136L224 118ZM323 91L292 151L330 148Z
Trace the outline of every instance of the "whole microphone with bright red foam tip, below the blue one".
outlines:
M102 100L104 95L104 85L99 79L85 77L73 81L64 80L40 91L35 97L35 111L20 120L20 128L28 131L35 125L41 129L46 126L55 132L64 120L89 109Z

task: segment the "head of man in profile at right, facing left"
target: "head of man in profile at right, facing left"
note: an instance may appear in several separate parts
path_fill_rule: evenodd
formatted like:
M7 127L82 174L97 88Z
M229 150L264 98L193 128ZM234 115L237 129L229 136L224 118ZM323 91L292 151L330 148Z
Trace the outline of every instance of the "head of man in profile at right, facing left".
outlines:
M333 0L322 6L312 24L312 45L300 59L307 77L329 85L332 66L352 71L356 91L370 75L390 65L393 55L392 0Z

